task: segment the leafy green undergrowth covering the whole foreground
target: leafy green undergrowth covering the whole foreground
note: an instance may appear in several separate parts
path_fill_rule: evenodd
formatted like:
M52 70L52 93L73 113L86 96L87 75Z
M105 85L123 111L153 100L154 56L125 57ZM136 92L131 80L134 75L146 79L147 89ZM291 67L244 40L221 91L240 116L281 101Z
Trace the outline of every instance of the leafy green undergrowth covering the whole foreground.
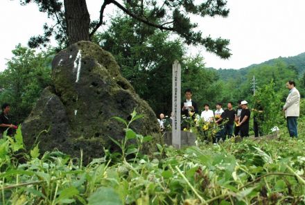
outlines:
M280 140L158 145L152 156L124 145L124 154L105 150L87 166L81 152L25 152L18 130L0 139L0 204L305 204L301 124L299 139L284 131ZM150 140L127 127L130 139Z

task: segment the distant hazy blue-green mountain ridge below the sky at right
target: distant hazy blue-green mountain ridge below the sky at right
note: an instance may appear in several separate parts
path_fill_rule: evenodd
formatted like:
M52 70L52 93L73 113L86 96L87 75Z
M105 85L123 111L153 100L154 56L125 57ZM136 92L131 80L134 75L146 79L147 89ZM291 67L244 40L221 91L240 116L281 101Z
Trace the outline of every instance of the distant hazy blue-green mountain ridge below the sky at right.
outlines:
M247 73L251 69L255 69L255 67L264 66L264 65L274 65L279 61L286 63L287 66L294 66L300 75L305 73L305 53L301 53L299 55L295 55L291 57L277 57L275 59L262 62L261 64L252 64L243 69L218 69L217 73L220 75L220 79L223 80L236 78L237 76L246 77Z

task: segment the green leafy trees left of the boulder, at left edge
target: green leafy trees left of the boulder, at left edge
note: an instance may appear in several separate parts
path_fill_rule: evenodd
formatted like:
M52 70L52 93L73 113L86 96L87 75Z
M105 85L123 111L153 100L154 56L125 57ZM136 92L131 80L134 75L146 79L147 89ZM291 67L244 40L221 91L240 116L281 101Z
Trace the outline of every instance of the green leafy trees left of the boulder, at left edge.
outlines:
M10 103L12 121L21 123L51 84L51 57L50 52L35 53L20 44L12 53L8 68L0 73L0 103Z

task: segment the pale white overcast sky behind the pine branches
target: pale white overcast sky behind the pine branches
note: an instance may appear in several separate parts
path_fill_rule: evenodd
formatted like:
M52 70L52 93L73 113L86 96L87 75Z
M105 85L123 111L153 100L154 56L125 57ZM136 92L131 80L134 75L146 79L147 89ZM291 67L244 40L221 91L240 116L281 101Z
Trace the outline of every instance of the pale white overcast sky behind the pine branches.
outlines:
M101 3L87 0L91 19L98 18ZM221 60L204 49L190 48L189 55L200 53L206 66L216 69L240 69L250 64L275 57L288 57L305 52L305 0L228 0L227 18L193 19L204 35L230 39L232 57ZM114 8L107 8L107 13ZM48 21L32 3L20 6L19 0L0 1L1 50L0 71L6 69L6 59L19 43L26 46L28 39L42 33Z

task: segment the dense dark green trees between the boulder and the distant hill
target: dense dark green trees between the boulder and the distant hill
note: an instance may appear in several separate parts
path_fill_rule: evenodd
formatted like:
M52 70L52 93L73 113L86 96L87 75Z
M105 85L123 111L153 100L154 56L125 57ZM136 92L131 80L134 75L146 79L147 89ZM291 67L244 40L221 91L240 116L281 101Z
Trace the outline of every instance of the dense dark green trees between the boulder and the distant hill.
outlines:
M156 113L171 113L172 64L182 64L182 90L191 88L194 100L205 103L219 89L211 88L218 75L204 69L203 58L185 57L185 48L180 39L171 39L168 32L141 24L130 17L112 19L105 33L94 36L94 42L110 51L121 66L139 96L146 100ZM205 83L202 83L205 82Z

